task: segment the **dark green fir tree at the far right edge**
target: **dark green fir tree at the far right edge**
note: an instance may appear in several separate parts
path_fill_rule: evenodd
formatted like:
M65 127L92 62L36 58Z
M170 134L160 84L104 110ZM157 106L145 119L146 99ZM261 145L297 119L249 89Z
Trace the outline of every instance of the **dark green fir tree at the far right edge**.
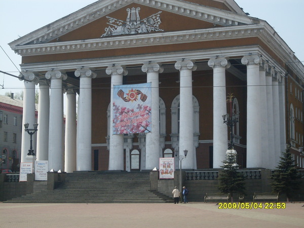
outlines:
M292 159L290 146L287 146L282 155L283 156L280 157L279 165L271 176L273 179L272 187L274 193L286 194L287 202L289 202L292 192L300 187L299 181L297 180L300 178L300 175L297 172L295 162Z

